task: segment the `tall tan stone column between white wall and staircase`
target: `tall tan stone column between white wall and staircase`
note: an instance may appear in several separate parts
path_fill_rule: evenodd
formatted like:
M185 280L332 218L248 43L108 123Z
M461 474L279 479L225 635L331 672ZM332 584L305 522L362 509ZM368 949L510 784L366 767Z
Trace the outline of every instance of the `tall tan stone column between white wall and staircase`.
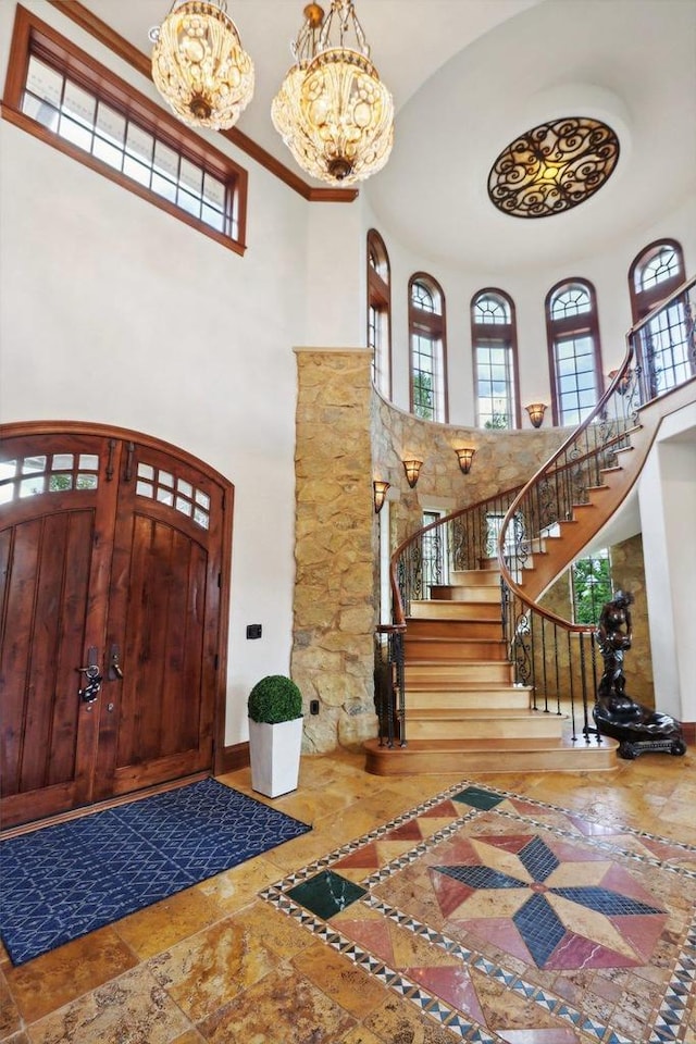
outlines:
M376 735L371 352L296 349L296 534L290 673L306 753ZM309 714L311 700L319 714Z

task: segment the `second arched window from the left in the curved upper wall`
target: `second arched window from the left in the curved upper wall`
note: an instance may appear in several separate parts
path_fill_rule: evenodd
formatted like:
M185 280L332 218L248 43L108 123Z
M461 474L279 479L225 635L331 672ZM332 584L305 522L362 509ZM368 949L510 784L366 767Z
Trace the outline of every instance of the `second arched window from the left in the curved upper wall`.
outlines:
M445 296L424 272L409 281L411 412L426 421L447 421Z

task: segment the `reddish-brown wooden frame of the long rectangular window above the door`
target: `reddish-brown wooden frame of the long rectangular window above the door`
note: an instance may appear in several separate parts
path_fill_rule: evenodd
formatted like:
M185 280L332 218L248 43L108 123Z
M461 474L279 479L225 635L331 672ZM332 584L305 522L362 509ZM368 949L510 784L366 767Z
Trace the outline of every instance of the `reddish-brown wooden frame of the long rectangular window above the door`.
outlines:
M85 149L72 145L23 112L23 96L32 57L50 65L63 77L70 77L78 87L161 140L183 159L189 160L203 172L223 182L227 196L225 213L227 216L234 213L236 234L227 235L206 224ZM147 200L178 221L183 221L221 246L239 254L246 251L248 175L244 167L210 146L126 80L21 5L17 5L15 12L1 115L14 126L26 130L33 137L139 196L140 199Z

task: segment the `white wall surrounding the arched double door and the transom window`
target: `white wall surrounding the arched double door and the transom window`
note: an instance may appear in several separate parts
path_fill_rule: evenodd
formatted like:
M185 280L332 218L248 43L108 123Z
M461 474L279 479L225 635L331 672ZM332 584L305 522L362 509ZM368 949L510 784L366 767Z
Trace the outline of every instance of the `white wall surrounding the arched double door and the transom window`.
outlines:
M7 41L13 5L1 7ZM50 5L39 13L73 35ZM251 685L289 669L293 347L307 339L309 204L219 138L249 171L245 257L0 121L0 419L134 428L234 483L235 743L246 738ZM260 641L246 639L247 623L263 624Z

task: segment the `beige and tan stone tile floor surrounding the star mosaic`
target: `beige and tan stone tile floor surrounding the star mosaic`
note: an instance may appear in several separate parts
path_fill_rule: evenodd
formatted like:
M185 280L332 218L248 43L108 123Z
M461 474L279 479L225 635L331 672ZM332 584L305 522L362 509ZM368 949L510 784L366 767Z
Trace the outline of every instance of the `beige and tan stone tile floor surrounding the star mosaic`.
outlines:
M165 902L13 968L0 956L3 1044L451 1044L460 1037L258 897L462 775L378 778L359 751L302 759L274 807L312 831ZM696 757L644 755L610 773L465 776L696 845ZM251 792L249 770L222 778ZM492 993L495 1004L495 991ZM506 1003L500 997L500 1004ZM696 1028L680 1030L696 1044ZM496 1037L498 1039L498 1037ZM569 1030L508 1044L572 1044Z

